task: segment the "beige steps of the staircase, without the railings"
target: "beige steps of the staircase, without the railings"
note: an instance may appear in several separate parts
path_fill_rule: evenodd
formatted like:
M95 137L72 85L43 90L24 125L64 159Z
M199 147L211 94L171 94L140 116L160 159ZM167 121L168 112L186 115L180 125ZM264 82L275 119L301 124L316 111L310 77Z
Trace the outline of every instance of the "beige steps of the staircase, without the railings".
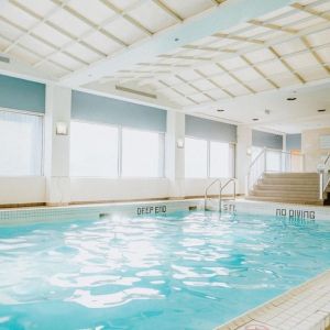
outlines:
M318 173L263 173L246 199L323 205L319 182Z

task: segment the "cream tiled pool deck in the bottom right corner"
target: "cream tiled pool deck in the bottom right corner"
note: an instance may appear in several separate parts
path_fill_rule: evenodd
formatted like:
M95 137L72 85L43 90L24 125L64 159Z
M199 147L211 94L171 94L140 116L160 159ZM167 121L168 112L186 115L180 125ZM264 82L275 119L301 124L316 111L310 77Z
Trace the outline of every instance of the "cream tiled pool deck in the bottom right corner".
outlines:
M216 328L216 330L324 329L330 329L330 270Z

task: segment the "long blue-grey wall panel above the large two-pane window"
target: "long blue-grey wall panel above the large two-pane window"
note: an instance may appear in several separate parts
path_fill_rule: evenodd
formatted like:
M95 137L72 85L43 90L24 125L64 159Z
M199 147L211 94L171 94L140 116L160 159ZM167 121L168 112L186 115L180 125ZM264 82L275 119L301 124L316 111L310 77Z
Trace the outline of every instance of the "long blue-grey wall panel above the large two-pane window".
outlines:
M72 118L166 132L167 111L73 90Z

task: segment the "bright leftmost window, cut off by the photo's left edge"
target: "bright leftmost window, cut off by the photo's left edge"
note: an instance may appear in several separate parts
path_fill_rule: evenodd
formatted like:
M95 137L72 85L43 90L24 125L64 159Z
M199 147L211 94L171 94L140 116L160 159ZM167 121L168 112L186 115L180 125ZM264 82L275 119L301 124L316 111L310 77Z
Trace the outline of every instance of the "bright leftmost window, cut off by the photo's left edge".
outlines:
M42 175L43 117L0 111L0 175Z

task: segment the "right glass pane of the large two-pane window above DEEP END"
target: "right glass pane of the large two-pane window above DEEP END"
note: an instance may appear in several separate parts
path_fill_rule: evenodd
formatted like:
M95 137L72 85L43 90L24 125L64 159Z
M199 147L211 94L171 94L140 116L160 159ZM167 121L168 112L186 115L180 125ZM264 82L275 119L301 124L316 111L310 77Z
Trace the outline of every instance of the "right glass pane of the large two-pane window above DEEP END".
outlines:
M163 176L163 134L130 129L122 130L122 176Z

